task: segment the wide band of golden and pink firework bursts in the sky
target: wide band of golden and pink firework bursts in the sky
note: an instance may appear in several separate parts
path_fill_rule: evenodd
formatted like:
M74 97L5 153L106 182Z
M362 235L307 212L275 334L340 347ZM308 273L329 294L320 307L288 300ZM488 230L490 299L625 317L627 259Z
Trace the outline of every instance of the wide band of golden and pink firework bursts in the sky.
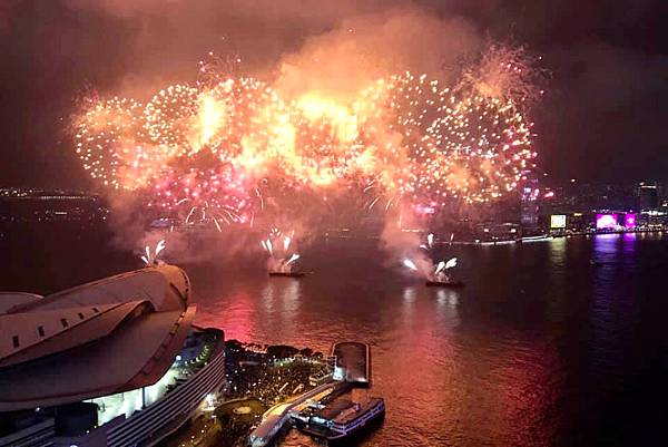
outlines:
M77 153L104 185L218 229L252 223L272 185L286 202L352 188L372 194L369 210L485 203L517 191L536 157L518 99L530 96L530 69L523 52L500 48L454 88L405 72L353 100L281 98L252 78L209 76L147 104L90 99L75 122Z

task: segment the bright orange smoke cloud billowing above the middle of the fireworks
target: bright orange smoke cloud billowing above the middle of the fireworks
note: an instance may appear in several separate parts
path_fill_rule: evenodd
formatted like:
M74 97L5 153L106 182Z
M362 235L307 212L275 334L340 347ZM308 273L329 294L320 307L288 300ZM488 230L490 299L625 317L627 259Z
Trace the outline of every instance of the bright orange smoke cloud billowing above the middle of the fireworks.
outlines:
M354 95L370 80L404 70L448 79L458 59L480 43L465 20L419 9L346 18L283 56L275 87L288 97L306 90Z

